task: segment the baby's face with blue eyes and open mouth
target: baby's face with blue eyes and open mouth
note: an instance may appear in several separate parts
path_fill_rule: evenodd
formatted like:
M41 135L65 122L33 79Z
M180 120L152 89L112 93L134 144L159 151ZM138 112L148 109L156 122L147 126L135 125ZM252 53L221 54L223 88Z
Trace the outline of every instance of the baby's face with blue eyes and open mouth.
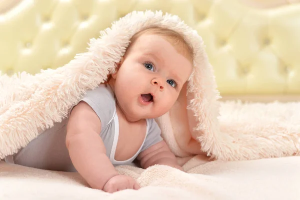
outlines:
M159 117L173 106L191 70L163 37L142 35L113 76L117 103L129 121Z

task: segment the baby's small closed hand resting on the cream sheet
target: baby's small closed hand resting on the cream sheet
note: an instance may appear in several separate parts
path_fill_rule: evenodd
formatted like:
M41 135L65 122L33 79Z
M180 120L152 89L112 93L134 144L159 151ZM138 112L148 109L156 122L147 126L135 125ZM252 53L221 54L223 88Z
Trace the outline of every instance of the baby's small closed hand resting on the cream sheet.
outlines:
M123 189L139 189L139 184L130 176L116 175L111 177L104 185L103 191L112 193Z

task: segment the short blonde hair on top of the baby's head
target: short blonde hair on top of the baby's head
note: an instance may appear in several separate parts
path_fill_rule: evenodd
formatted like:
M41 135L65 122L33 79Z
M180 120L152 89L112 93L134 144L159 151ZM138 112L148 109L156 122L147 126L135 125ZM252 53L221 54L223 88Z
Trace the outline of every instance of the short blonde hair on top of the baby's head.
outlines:
M186 59L188 59L191 63L193 61L193 50L192 48L187 44L185 39L182 35L179 33L172 31L170 29L166 28L160 28L160 27L150 27L144 30L141 30L137 33L135 33L131 39L130 43L126 49L126 52L130 49L130 46L141 36L144 34L152 34L152 35L158 35L166 39L170 44L176 49L176 51L183 55Z

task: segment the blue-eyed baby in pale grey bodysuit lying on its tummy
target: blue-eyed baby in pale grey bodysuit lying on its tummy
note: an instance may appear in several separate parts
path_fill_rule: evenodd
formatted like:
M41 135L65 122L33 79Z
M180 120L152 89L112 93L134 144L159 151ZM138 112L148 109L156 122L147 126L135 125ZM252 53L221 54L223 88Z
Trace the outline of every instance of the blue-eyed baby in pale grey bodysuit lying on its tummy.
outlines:
M16 164L77 171L107 192L138 189L114 166L138 161L181 169L160 136L157 118L173 106L192 71L192 49L163 28L136 33L116 71L72 107L69 116L45 130L13 156Z

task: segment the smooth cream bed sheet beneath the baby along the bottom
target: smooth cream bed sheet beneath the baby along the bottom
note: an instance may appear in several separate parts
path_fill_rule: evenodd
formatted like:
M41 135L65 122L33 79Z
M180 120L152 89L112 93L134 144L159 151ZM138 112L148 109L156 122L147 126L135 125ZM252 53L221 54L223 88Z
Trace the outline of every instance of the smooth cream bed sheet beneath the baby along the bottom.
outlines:
M89 188L78 173L0 162L0 199L300 199L297 156L230 162L207 162L195 156L183 168L187 173L163 165L145 170L118 166L119 173L135 178L141 188L109 194Z

